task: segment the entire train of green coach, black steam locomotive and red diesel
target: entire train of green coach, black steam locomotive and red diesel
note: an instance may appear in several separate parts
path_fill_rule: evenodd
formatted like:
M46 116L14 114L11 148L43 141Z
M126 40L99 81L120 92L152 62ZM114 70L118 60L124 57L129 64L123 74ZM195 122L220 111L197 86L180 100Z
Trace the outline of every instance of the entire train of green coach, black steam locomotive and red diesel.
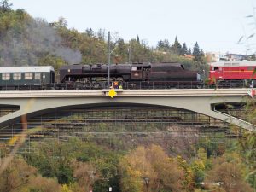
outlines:
M210 65L210 86L246 87L256 83L256 62L229 61ZM110 82L123 89L201 88L205 82L180 63L112 64ZM56 74L58 78L56 77ZM73 64L55 72L51 66L0 67L0 90L87 90L109 88L108 65Z

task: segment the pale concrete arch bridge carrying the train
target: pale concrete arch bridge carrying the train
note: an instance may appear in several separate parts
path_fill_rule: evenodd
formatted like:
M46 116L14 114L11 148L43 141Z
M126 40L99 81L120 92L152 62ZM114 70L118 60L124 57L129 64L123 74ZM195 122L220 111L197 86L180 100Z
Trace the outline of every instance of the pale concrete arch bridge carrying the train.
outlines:
M28 118L49 113L59 108L80 108L101 105L138 104L182 108L202 113L214 119L255 131L256 126L215 110L217 103L242 102L249 89L198 90L116 90L117 96L108 96L109 90L42 90L1 91L0 108L13 107L15 112L0 117L0 128Z

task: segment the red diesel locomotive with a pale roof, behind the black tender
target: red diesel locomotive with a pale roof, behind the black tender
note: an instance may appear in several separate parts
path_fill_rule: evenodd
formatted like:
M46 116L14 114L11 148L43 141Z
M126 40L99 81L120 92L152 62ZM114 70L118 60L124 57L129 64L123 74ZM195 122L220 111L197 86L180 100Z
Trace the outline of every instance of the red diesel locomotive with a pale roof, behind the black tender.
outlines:
M256 85L256 61L222 61L210 64L210 84L223 87Z

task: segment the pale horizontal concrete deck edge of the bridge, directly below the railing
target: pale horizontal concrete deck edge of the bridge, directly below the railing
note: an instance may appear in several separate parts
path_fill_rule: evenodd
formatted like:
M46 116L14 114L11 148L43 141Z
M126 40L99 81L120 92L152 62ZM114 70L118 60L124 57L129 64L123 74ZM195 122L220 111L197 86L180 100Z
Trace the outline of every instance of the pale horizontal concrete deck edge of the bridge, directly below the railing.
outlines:
M171 90L115 90L117 96L248 96L248 88L240 89L171 89ZM37 97L96 97L108 96L109 90L23 90L1 91L1 98Z

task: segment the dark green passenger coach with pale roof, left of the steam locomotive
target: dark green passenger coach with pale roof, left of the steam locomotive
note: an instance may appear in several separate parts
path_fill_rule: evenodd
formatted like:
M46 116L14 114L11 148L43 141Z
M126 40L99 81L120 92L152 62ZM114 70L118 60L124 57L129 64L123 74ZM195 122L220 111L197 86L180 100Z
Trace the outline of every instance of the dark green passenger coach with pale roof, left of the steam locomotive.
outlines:
M54 83L51 66L0 67L1 90L47 90Z

